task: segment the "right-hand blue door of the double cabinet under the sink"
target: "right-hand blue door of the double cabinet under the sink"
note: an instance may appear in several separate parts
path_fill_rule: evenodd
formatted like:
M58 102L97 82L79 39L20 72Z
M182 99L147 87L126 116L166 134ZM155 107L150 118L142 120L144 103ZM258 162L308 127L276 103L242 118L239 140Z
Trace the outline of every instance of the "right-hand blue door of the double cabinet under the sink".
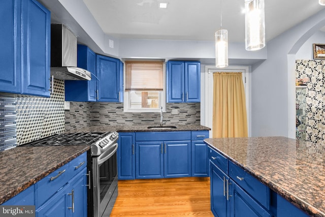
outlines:
M190 141L164 142L164 167L165 178L190 176Z

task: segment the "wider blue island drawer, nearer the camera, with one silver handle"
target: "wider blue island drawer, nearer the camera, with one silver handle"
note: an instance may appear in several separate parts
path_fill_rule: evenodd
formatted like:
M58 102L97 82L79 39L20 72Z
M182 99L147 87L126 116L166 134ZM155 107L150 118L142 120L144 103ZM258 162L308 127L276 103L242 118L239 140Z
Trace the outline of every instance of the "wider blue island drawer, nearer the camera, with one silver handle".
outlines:
M270 189L242 168L229 161L229 176L256 201L270 209Z

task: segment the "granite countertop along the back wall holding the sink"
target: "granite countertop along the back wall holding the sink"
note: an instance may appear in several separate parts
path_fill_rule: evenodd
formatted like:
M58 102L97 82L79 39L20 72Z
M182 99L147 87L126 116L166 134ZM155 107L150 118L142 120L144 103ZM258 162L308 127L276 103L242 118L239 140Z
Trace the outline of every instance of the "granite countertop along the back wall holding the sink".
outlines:
M169 125L167 125L169 126ZM150 126L146 125L134 125L134 126L91 126L86 128L75 128L73 130L67 131L67 133L77 133L77 132L160 132L160 131L202 131L211 130L208 127L202 125L175 125L176 128L172 129L148 129ZM152 126L151 126L152 127Z

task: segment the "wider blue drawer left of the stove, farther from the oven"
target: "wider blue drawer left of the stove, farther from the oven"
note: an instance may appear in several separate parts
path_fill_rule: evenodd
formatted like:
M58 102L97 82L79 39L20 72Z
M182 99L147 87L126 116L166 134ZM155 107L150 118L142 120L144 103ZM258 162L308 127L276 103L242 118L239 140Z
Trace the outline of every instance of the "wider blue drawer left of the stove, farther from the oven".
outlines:
M35 205L39 207L69 181L68 165L63 165L35 184ZM51 180L52 179L52 180Z

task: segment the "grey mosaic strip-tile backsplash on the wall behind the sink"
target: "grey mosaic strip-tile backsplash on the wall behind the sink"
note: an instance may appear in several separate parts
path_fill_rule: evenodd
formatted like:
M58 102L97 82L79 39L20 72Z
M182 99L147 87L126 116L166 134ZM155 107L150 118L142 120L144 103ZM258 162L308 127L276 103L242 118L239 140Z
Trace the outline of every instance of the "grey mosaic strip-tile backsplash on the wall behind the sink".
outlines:
M177 109L178 114L172 114ZM163 113L167 125L200 125L200 103L167 103ZM124 113L123 103L70 102L66 132L75 128L110 125L158 125L160 113Z

